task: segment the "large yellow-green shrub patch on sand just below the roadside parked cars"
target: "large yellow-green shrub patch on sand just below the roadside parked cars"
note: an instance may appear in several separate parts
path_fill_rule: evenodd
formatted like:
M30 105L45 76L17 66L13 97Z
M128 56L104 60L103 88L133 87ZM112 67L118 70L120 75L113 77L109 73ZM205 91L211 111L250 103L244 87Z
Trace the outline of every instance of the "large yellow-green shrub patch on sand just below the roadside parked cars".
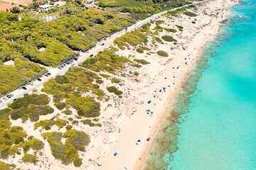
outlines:
M96 102L92 96L81 96L82 93L89 91L99 98L104 95L99 86L92 84L95 79L100 77L80 67L71 67L65 75L47 81L42 91L58 95L60 100L65 98L66 105L73 106L78 111L78 115L87 118L97 117L100 115L100 103Z

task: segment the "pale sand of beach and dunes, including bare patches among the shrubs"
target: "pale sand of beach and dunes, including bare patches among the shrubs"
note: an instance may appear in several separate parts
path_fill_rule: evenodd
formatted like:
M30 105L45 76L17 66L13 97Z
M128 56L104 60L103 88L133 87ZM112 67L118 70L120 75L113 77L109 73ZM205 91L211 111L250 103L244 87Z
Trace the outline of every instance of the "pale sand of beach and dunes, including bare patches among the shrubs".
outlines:
M104 83L100 84L100 89L105 89L105 94L109 96L108 101L100 101L100 99L95 98L95 101L101 103L98 123L102 127L90 127L82 123L73 125L73 129L84 131L90 135L90 145L86 147L85 152L79 152L79 156L83 160L82 166L64 165L60 160L55 159L51 154L47 140L41 136L43 132L65 132L65 128L60 129L53 125L51 130L41 130L41 128L34 130L34 123L31 123L30 120L22 123L21 119L10 121L12 125L21 126L26 130L28 136L33 135L42 140L45 147L41 152L36 153L40 158L36 164L23 163L22 154L10 157L4 162L15 163L17 168L21 169L115 170L124 169L125 166L129 166L129 169L142 169L154 141L154 135L170 111L171 103L180 90L184 78L193 69L203 47L209 40L215 38L220 26L223 26L221 22L228 16L228 6L237 3L238 1L231 0L212 0L196 6L196 9L188 8L188 11L197 14L196 19L183 13L178 13L178 17L167 15L156 18L154 21L164 21L160 25L163 28L178 30L176 25L183 27L182 31L178 30L176 33L166 30L159 31L159 37L171 35L177 40L176 43L154 42L153 38L149 36L146 47L149 47L150 50L147 52L139 53L133 50L133 47L129 50L116 52L117 55L127 57L129 60L143 59L150 63L142 65L140 68L130 67L127 64L124 68L127 72L125 77L122 76L121 72L117 75L110 74L111 77L120 79L120 84L114 84L111 79L107 78L104 78ZM154 31L155 27L156 23L151 23L150 30ZM125 30L120 34L124 33ZM117 47L117 45L113 46ZM166 51L169 57L157 55L156 52L159 50ZM81 52L80 55L87 54ZM138 72L139 75L130 75L129 72ZM109 73L106 72L106 74ZM108 92L107 86L118 86L118 89L123 91L123 97L118 98L118 96ZM38 86L38 92L35 93L44 94L41 92L42 88L43 86ZM83 94L83 96L87 95L92 96L90 93ZM148 103L149 101L151 102ZM48 120L58 113L60 113L58 118L63 120L78 119L75 116L77 113L74 108L70 108L73 113L71 115L65 115L59 111L54 106L53 96L50 96L49 105L54 109L54 113L40 116L40 120ZM146 112L148 109L150 109L149 114ZM146 141L148 137L151 140ZM139 145L136 144L137 140L141 140ZM32 152L31 149L28 153ZM115 152L119 153L116 157L114 156Z

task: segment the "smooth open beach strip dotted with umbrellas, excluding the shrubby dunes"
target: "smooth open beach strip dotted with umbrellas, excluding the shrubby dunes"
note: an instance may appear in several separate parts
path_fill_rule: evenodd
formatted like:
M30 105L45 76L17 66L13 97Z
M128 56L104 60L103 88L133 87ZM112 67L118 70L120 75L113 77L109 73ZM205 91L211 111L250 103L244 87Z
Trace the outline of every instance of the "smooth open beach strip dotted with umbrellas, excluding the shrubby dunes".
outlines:
M137 105L132 118L126 120L124 130L122 130L117 143L107 152L102 166L97 169L124 169L125 166L129 167L129 169L142 169L146 162L147 154L149 154L151 143L154 140L154 135L163 122L166 113L170 111L171 103L178 93L184 77L193 69L206 43L215 38L220 26L223 26L220 22L228 16L228 6L237 3L238 1L217 0L201 4L198 8L199 13L197 14L200 19L197 17L196 28L193 23L187 23L189 19L185 15L171 23L173 25L181 24L184 27L183 35L178 37L179 39L177 38L178 42L183 41L183 45L179 45L177 49L169 51L172 57L171 60L161 63L160 66L154 64L154 66L146 67L144 72L149 74L143 74L140 78L144 82L138 84L138 88L145 89L142 96L138 95L143 98L144 104ZM210 15L206 16L204 13ZM160 19L168 21L165 17ZM159 45L159 49L166 50L169 48L168 45L166 46L161 47ZM182 46L187 46L186 50L183 50ZM188 63L185 64L185 62ZM150 76L151 69L158 73L155 77ZM169 84L171 86L168 86ZM159 93L159 89L163 87L166 87L166 92ZM155 89L158 89L156 93L154 93ZM161 97L161 100L154 98L154 94ZM150 104L147 103L149 100L151 101ZM146 114L146 109L154 111L153 117ZM146 141L147 137L151 138L149 142ZM140 145L136 145L137 140L142 141ZM114 157L114 152L119 152L119 154Z

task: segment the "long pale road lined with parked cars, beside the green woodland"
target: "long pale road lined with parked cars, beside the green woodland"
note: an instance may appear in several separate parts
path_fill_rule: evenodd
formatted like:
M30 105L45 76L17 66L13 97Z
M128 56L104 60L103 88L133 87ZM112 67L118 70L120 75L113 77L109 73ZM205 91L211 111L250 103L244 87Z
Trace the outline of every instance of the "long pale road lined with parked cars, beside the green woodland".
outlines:
M199 1L199 2L193 3L191 5L201 4L201 3L206 2L206 1L210 1L210 0ZM189 6L189 5L186 5L186 6ZM184 7L184 6L181 6L181 7L178 7L178 8L182 8L182 7ZM171 10L168 10L168 11L175 11L178 8L174 8L174 9L171 9ZM148 23L149 21L154 20L155 18L161 16L164 13L167 13L168 11L164 11L164 12L161 12L161 13L154 14L153 16L151 16L149 18L146 18L142 21L138 21L137 23L134 23L132 26L129 26L129 28L127 28L127 30L121 30L118 33L115 33L115 34L111 35L109 38L107 38L107 40L102 40L101 42L97 42L97 45L95 47L93 47L91 50L89 50L89 52L80 52L80 57L78 57L78 61L74 61L73 63L75 65L78 65L78 63L85 61L87 59L87 57L89 57L90 55L97 55L97 52L103 51L104 48L109 47L114 42L115 38L118 38L121 35L124 35L124 33L126 33L126 32L130 32L132 30L135 30L135 29L143 26L145 23ZM102 45L102 43L105 43L105 45ZM27 88L26 90L16 89L15 91L13 91L11 93L11 94L14 94L14 96L11 97L11 98L7 98L7 101L4 101L3 98L0 98L1 101L3 101L3 103L0 103L0 109L5 108L7 103L13 102L14 98L21 98L21 97L23 97L23 94L31 94L32 90L34 88L38 88L38 87L42 86L44 82L48 81L48 79L56 77L56 75L65 74L65 72L68 71L69 67L71 67L71 64L67 65L66 67L64 67L61 70L58 69L58 68L50 68L50 69L48 69L48 71L51 74L50 77L43 76L43 77L41 77L42 81L38 81L38 80L33 81L33 86L26 85L26 88Z

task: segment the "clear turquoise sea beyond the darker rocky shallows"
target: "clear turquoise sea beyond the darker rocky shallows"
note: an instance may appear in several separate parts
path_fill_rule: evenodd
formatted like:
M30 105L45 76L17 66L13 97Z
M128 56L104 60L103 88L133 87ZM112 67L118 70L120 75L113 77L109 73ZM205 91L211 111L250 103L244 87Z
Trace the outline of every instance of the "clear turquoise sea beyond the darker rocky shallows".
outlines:
M180 119L179 149L164 157L174 170L256 169L256 0L230 9L203 52L210 67Z

